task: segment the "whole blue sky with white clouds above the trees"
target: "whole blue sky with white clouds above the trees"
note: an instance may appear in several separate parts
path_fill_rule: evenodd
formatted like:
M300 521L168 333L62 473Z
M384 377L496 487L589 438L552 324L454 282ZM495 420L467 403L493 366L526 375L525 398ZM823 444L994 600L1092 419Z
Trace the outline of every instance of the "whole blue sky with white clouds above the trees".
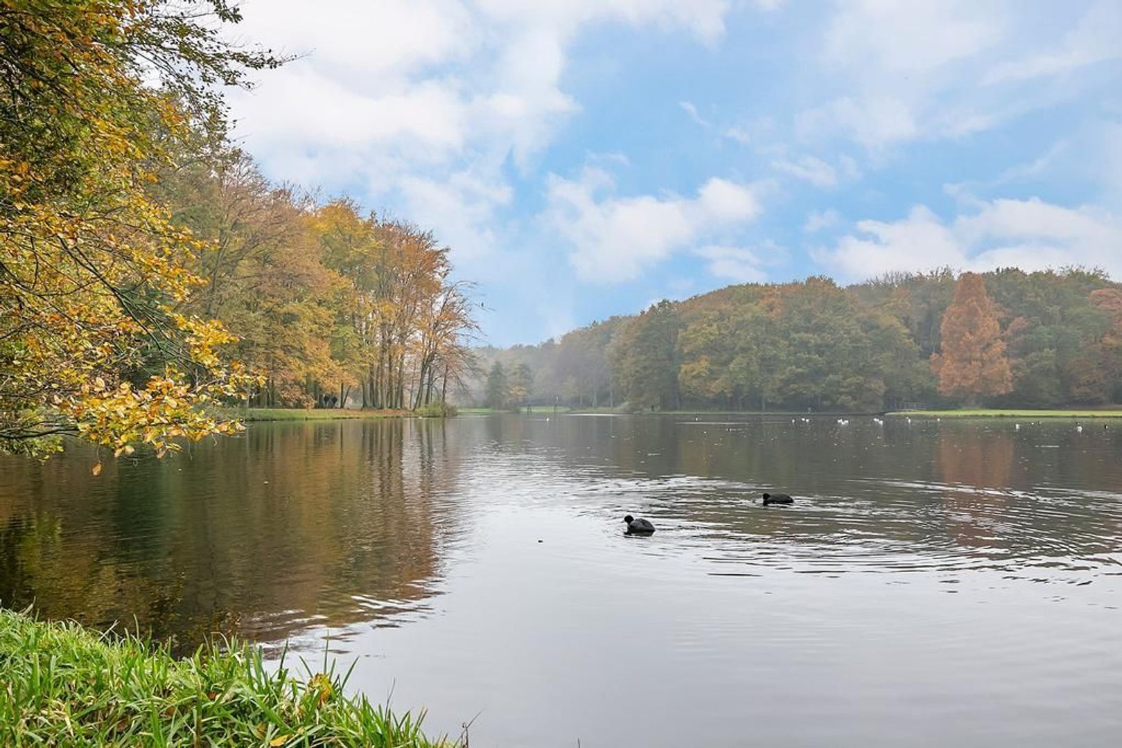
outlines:
M243 0L278 182L430 229L487 342L729 284L1122 279L1118 0Z

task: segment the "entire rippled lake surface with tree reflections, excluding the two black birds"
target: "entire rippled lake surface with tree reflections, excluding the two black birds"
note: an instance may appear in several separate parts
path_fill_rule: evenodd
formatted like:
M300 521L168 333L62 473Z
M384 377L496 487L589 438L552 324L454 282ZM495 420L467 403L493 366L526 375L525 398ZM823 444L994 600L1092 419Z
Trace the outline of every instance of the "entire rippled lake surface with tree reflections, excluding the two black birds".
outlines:
M0 458L0 601L330 640L472 748L1119 745L1109 426L486 416L255 424L98 478Z

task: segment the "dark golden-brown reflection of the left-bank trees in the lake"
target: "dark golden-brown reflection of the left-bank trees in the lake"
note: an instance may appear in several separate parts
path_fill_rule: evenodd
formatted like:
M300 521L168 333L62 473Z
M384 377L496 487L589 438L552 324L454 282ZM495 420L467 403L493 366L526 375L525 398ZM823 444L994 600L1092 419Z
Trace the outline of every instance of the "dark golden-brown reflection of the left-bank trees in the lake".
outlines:
M439 421L251 427L96 479L92 461L2 458L0 600L183 648L423 612L458 511Z

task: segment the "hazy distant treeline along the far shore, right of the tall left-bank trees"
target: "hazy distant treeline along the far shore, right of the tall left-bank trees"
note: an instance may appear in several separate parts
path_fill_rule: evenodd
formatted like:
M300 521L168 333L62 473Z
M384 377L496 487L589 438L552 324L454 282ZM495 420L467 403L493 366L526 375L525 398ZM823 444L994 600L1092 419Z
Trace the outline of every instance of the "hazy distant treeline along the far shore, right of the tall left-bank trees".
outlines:
M478 351L477 401L880 410L1122 403L1122 285L1002 269L729 286ZM527 387L507 387L511 372ZM515 391L516 390L516 391Z

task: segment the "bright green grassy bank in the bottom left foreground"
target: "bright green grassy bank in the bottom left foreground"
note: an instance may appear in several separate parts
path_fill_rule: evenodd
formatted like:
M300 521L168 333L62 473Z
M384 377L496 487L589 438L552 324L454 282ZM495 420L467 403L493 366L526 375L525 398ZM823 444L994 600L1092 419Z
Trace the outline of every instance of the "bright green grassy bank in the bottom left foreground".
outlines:
M0 674L2 746L453 745L344 695L346 676L269 672L246 645L175 659L136 637L0 610Z

